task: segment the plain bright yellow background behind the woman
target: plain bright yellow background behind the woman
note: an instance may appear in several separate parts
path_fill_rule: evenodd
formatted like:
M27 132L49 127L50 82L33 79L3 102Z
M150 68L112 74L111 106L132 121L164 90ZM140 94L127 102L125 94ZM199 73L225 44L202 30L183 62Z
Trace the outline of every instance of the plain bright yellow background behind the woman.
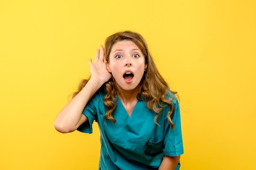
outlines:
M97 169L97 124L53 124L89 58L124 30L145 37L180 95L181 170L255 170L255 0L2 0L0 169Z

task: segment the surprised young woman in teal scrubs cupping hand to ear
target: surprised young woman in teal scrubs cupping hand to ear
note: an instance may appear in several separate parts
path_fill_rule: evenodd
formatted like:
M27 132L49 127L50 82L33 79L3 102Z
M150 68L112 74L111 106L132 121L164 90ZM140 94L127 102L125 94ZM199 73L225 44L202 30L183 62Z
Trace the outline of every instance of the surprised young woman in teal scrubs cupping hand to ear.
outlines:
M89 60L83 80L61 110L55 128L101 137L99 170L178 170L183 154L179 103L157 71L144 38L131 31L110 35Z

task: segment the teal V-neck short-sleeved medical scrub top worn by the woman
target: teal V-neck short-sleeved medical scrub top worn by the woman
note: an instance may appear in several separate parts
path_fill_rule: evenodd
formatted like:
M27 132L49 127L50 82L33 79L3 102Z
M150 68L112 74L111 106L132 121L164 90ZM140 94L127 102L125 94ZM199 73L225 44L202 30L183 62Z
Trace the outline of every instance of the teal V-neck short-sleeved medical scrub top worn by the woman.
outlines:
M117 121L104 119L107 107L103 103L104 94L97 92L83 110L88 121L81 124L78 131L92 133L92 123L98 123L101 133L101 153L99 170L156 170L164 156L178 156L184 153L180 124L180 108L177 99L173 102L171 115L175 129L167 119L170 107L164 107L154 122L156 113L146 107L146 102L138 100L131 116L117 97L117 106L112 113ZM173 96L174 97L174 96ZM175 170L180 169L180 163Z

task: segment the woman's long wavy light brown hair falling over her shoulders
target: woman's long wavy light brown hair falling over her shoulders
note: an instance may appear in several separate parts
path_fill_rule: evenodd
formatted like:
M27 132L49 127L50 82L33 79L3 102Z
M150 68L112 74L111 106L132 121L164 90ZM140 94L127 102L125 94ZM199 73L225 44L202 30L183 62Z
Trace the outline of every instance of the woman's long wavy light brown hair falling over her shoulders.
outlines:
M172 100L175 98L175 96L172 96L170 92L174 95L176 95L177 92L173 92L164 80L164 78L161 76L161 74L159 74L157 67L151 57L151 54L148 51L146 41L139 33L124 31L110 35L105 41L105 59L107 63L109 63L109 55L112 46L122 40L129 40L134 42L144 55L145 64L147 64L144 76L139 83L139 93L137 95L137 99L139 100L139 98L141 97L142 100L147 102L147 107L156 113L155 123L157 125L159 125L157 123L157 118L161 114L162 109L164 107L170 106L167 114L168 122L171 125L171 128L174 129L174 124L171 120L171 113L173 112ZM81 81L78 91L74 92L74 94L72 95L73 98L83 89L83 87L85 87L87 82L88 79ZM104 93L106 94L106 96L103 98L103 102L108 108L105 118L108 120L112 120L115 123L116 120L112 117L112 113L116 107L115 97L119 94L119 92L115 85L114 78L110 78L110 80L102 85L99 90L104 91Z

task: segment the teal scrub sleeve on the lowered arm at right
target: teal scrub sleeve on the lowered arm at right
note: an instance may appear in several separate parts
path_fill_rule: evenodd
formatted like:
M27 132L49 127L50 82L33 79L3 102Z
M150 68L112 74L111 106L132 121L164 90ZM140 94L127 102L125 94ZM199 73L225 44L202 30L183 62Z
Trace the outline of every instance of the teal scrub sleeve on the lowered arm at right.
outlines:
M169 107L167 107L169 109ZM166 156L179 156L184 153L183 142L182 142L182 131L181 131L181 120L180 120L180 107L177 99L173 100L173 113L171 114L171 119L175 125L174 129L171 129L171 126L168 122L166 108L165 122L164 122L164 155Z

